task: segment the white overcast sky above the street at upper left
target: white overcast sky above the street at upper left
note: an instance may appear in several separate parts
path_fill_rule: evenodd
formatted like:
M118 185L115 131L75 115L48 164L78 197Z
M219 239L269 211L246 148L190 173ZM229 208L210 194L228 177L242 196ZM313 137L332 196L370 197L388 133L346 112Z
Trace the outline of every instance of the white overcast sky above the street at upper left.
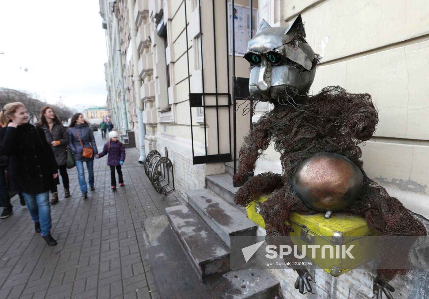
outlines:
M99 11L98 0L1 0L0 87L78 110L104 106L107 52Z

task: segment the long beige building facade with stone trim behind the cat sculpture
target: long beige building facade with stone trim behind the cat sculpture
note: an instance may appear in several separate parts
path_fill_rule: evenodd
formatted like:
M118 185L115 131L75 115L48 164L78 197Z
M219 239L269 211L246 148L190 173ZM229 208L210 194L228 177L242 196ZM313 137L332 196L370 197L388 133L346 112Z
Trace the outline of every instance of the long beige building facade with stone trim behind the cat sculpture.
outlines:
M168 149L175 187L184 198L188 190L205 188L206 176L225 172L224 162L234 156L234 131L238 157L250 128L250 116L243 115L248 101L236 98L234 126L232 101L228 100L233 88L233 57L231 36L227 35L231 8L226 3L100 1L109 48L109 111L119 122L126 119L128 128L136 131L136 139L144 139L137 146L142 149L144 145L145 154ZM249 1L235 4L245 8ZM427 224L429 74L422 66L429 52L429 11L421 7L425 2L420 0L253 1L257 24L265 19L271 26L285 26L302 14L306 40L323 57L311 94L339 85L372 95L380 121L375 136L361 146L365 171ZM237 47L250 38L245 27L237 34ZM248 78L249 65L240 50L235 57L235 76ZM190 94L196 98L190 100ZM257 121L270 108L257 104L252 120ZM282 172L273 146L257 162L255 175L267 171ZM285 298L295 297L292 270L273 272L282 281ZM357 270L345 275L347 279L335 280L320 273L317 298L372 296L371 276ZM397 280L402 293L412 296L411 278Z

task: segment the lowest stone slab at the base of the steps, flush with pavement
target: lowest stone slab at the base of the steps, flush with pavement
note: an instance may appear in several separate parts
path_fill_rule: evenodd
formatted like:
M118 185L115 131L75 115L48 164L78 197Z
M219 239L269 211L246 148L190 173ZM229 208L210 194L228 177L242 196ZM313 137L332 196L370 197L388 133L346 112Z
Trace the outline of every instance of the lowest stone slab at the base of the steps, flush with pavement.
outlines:
M143 222L148 258L161 299L281 299L280 284L267 270L231 270L201 280L186 258L166 216Z

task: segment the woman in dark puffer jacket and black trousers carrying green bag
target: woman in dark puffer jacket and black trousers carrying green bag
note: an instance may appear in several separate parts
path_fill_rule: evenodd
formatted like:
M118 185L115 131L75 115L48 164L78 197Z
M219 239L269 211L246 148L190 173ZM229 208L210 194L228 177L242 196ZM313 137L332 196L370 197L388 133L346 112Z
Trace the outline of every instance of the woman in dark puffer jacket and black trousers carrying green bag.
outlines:
M70 197L70 191L66 164L69 136L67 136L66 128L61 124L60 119L49 106L42 107L40 110L40 121L37 125L45 131L46 141L51 145L52 151L54 152L55 160L57 161L58 169L63 179L64 197L68 198ZM56 204L58 202L57 184L54 184L51 193L51 204Z

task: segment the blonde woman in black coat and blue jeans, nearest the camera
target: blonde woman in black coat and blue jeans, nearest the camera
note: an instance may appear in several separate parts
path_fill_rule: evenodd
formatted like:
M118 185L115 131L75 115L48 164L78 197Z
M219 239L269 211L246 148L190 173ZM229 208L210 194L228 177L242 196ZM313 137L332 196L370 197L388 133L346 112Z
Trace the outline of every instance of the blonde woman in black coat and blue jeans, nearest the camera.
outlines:
M9 103L0 112L0 155L9 156L9 183L12 190L22 192L36 232L41 232L49 246L57 245L51 236L49 190L57 178L57 162L45 132L28 122L24 104Z

